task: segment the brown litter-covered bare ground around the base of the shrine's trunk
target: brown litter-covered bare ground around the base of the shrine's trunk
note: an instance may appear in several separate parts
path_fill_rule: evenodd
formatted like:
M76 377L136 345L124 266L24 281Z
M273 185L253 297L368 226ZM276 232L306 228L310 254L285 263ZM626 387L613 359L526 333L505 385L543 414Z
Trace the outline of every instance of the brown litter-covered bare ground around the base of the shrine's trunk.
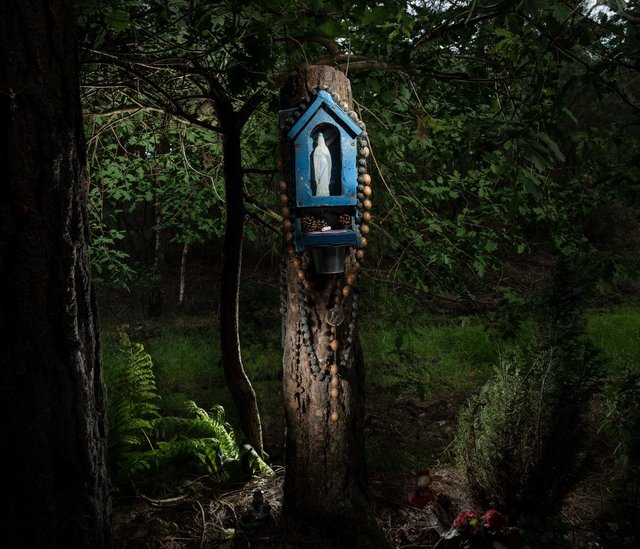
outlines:
M435 547L442 529L450 526L448 521L457 511L474 508L463 475L448 459L442 459L453 437L457 412L467 396L458 394L432 401L405 398L403 404L388 407L376 405L373 395L369 395L366 430L370 442L375 443L382 435L393 443L397 453L416 453L419 448L428 454L424 462L434 464L429 470L433 499L422 509L410 505L407 499L416 487L415 470L373 467L369 486L374 512L392 547ZM601 459L594 461L589 476L566 500L562 511L564 547L639 547L612 511L609 499L614 471L606 448L602 450ZM116 500L119 547L342 547L339 541L324 539L320 531L301 529L283 520L280 503L284 470L275 467L275 472L272 478L252 478L244 484L215 489L203 484L193 493L175 498L138 496ZM262 492L270 506L270 513L262 520L254 520L252 501L256 490ZM557 546L560 545L554 545Z

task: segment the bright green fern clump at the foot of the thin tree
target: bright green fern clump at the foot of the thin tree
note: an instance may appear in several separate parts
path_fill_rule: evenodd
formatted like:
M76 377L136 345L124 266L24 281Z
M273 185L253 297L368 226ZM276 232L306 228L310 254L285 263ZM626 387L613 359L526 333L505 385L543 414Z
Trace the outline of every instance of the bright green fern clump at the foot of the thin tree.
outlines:
M158 488L167 479L202 473L214 482L272 474L249 445L240 445L222 406L184 403L183 417L162 416L153 362L140 343L119 332L115 359L105 365L109 463L116 486Z

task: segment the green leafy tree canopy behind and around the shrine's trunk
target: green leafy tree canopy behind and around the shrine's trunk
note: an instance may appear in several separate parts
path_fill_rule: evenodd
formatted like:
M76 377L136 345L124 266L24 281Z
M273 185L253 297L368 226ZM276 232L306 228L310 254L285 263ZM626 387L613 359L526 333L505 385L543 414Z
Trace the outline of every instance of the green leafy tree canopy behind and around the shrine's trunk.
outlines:
M118 196L157 200L173 238L220 233L213 219L224 202L216 178L225 108L235 112L232 125L244 128L247 213L275 226L275 92L296 67L329 64L350 77L370 128L377 278L456 300L482 295L480 304L495 304L513 298L510 288L532 282L513 280L505 259L589 256L602 280L635 263L627 253L637 227L633 3L99 7L86 2L80 15L86 112L94 143L108 129L110 150L133 163L122 176L99 161L106 168L96 179L121 182L107 184L112 194L101 196L112 204ZM174 167L159 177L174 187L156 178L150 189L147 178L134 185L135 197L127 194L127 181L142 173L135 162L157 164L162 157L152 149L163 142ZM96 161L108 158L108 147L95 150ZM181 210L184 199L197 207ZM616 229L604 222L613 212Z

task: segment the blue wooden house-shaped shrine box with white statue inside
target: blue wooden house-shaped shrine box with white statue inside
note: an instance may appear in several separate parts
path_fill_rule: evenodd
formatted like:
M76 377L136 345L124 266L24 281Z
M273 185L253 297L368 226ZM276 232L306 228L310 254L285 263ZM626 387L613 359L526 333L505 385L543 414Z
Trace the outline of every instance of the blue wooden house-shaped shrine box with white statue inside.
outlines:
M363 129L325 90L295 116L286 134L295 249L360 247L357 159Z

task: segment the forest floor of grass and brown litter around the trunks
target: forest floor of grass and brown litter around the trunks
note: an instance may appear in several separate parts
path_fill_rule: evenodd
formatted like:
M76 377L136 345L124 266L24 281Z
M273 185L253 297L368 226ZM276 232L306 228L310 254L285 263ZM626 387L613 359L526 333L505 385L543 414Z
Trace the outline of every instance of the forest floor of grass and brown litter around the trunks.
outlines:
M260 303L261 309L257 312L252 309L251 314L245 313L241 319L243 329L247 330L241 340L245 363L253 368L249 376L258 394L265 448L275 476L222 486L207 479L191 479L188 489L182 487L175 493L150 496L140 491L131 497L116 494L114 526L120 549L344 546L339 541L325 539L321 531L286 522L282 516L284 417L278 374L281 350L279 326L274 327L272 322L274 315L277 317L278 294L277 288L255 285L253 288L257 288L256 294L248 296L246 302L253 308ZM613 317L596 319L596 324L600 322L595 331L596 343L619 339L619 347L629 353L626 359L635 357L633 360L637 361L639 310L635 307L629 312L632 324L624 319L630 331L619 329ZM131 336L145 344L159 375L164 376L164 380L158 379L158 386L161 393L166 393L163 394L166 406L170 408L172 402L183 402L186 396L199 404L215 402L224 406L233 423L233 405L225 394L223 377L221 373L211 373L211 365L219 362L219 355L211 351L211 342L216 338L215 330L212 331L215 319L212 322L210 313L205 319L204 311L194 312L198 319L189 320L186 328L181 326L178 330L183 342L174 339L165 343L167 322L164 319L132 323ZM405 312L404 316L411 315ZM392 547L443 547L440 541L443 528L450 526L457 511L475 507L466 480L455 468L449 450L461 407L493 372L494 345L485 339L482 329L467 325L464 319L454 327L446 325L438 331L413 332L405 334L404 339L398 338L402 335L400 332L394 332L396 319L380 320L373 313L369 319L362 330L369 372L365 431L375 517ZM121 321L115 318L104 323L104 333L108 336ZM386 324L378 324L382 322ZM383 338L376 333L384 330L388 337L385 336L386 342L381 342ZM637 348L629 350L631 337L637 340ZM265 339L270 342L265 344ZM170 353L175 357L165 356L163 345L171 347ZM184 347L181 354L176 350L180 346ZM108 355L108 345L105 347ZM204 353L212 354L203 359L202 365L191 363L194 357ZM176 364L172 366L174 358ZM411 366L414 362L421 369L429 369L426 377L415 377L418 374ZM187 373L192 379L176 379ZM399 383L400 378L408 382ZM167 379L171 380L169 384ZM426 391L422 391L425 388ZM596 407L598 405L596 403ZM592 430L595 444L589 474L566 499L560 521L550 526L550 529L560 529L562 534L553 544L543 542L536 547L640 549L640 539L632 534L638 532L637 524L621 518L612 504L617 473L612 442L598 433L595 417ZM419 471L425 469L429 470L433 499L424 508L416 508L409 504L408 496L416 488ZM252 511L257 490L270 506L269 513L260 520L255 520ZM447 511L444 514L442 506ZM635 520L637 518L638 513ZM508 549L515 547L522 545Z

